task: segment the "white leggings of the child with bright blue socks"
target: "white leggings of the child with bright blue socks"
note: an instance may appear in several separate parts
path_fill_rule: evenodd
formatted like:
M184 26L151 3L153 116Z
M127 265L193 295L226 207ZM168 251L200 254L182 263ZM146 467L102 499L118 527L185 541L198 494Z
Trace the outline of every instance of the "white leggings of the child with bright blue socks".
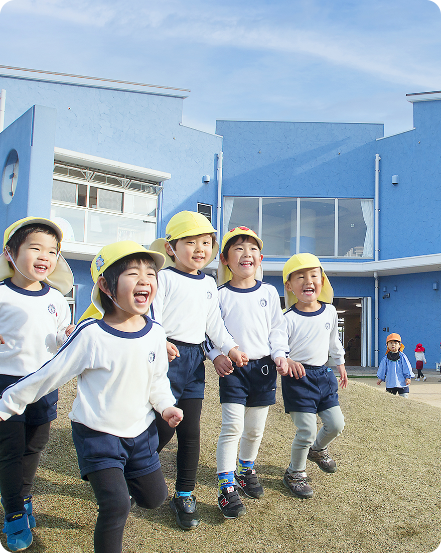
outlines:
M222 428L217 441L217 472L236 469L237 447L239 458L255 461L264 435L269 405L245 407L240 403L222 404Z

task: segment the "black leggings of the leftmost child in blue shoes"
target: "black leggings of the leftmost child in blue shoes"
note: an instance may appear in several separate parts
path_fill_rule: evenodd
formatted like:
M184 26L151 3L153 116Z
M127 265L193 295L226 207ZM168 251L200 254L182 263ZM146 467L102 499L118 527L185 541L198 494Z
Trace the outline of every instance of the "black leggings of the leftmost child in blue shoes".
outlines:
M0 492L7 514L24 510L23 497L30 494L49 430L50 422L0 422Z

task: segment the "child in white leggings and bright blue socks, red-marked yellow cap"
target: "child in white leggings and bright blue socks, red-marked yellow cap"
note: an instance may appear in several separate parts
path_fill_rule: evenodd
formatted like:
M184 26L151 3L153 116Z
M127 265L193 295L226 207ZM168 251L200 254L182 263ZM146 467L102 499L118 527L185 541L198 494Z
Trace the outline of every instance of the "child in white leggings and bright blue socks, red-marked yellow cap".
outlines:
M261 279L262 248L263 242L251 229L233 228L222 240L218 270L223 320L252 361L246 367L232 369L228 358L206 342L207 355L222 377L219 378L222 429L216 460L218 507L227 519L246 513L238 486L247 497L259 499L264 496L254 461L269 406L276 403L277 372L288 373L286 322L279 293L274 286L256 280Z

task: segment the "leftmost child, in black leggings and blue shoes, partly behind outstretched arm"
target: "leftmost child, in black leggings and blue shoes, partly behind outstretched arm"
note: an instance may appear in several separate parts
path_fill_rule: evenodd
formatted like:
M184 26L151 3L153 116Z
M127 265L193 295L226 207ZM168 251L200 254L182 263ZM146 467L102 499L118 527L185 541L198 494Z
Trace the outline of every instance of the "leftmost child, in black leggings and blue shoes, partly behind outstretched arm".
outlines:
M25 217L4 231L0 255L0 391L36 371L75 328L63 297L73 275L60 255L62 232L54 222ZM56 289L57 290L56 290ZM3 532L10 550L27 549L35 527L31 487L56 419L56 389L0 425Z

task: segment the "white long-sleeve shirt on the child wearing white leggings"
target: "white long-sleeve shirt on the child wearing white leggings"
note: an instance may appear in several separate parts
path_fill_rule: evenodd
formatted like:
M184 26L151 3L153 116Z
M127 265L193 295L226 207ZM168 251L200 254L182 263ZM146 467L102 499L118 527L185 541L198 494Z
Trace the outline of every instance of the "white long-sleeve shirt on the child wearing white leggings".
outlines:
M218 296L228 331L250 359L286 357L286 321L274 286L256 281L253 288L243 289L225 283L219 286ZM221 354L208 340L204 347L211 361Z

